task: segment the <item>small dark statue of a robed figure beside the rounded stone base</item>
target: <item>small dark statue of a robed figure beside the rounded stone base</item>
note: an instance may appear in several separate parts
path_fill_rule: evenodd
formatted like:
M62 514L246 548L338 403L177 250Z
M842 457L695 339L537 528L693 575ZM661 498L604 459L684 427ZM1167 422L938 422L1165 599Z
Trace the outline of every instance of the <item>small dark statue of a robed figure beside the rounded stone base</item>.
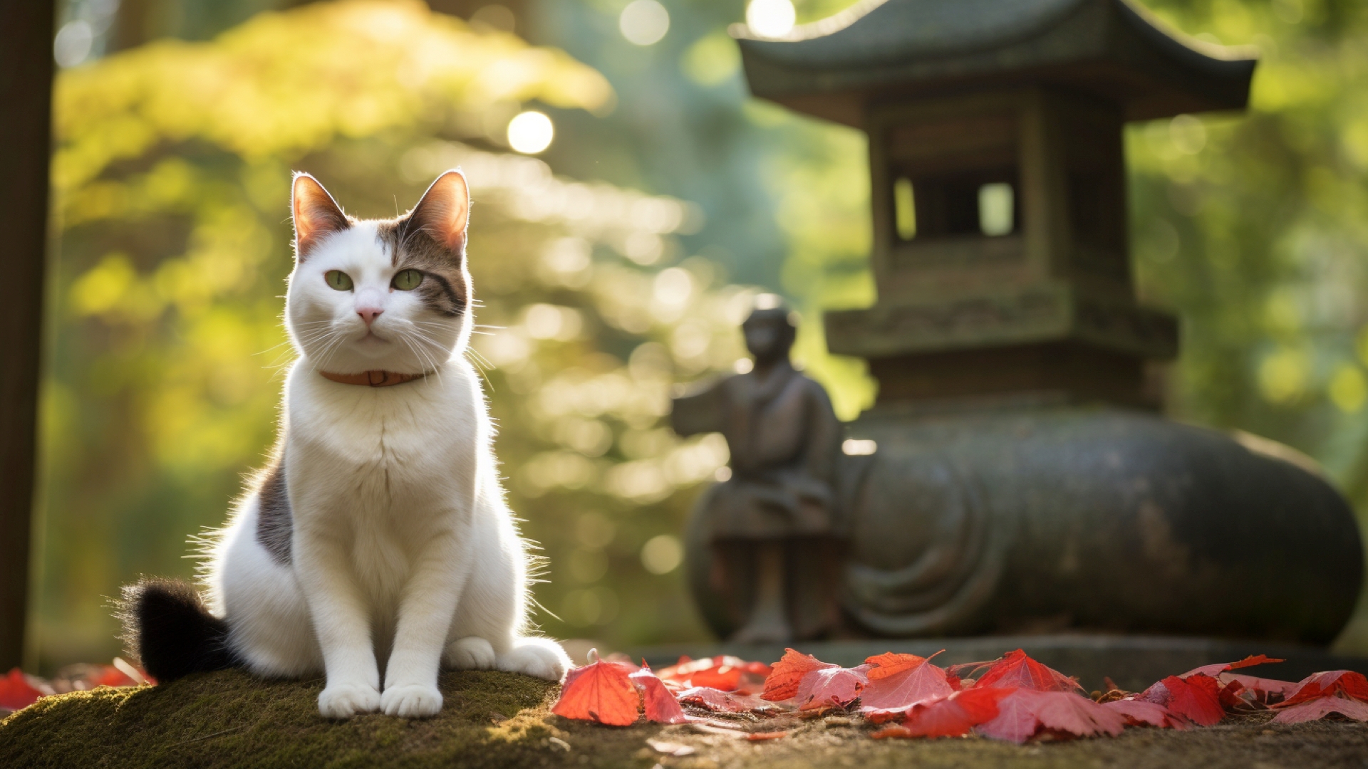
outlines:
M795 315L762 294L741 326L751 371L674 400L680 435L721 432L731 478L699 504L711 583L732 640L817 638L836 625L834 516L841 423L826 391L789 361Z

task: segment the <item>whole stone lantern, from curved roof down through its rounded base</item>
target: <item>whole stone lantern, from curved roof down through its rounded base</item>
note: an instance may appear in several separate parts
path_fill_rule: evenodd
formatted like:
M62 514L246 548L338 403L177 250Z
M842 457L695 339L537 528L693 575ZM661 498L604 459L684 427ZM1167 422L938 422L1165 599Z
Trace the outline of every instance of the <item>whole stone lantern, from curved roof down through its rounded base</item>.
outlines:
M826 315L878 380L840 472L845 635L1332 639L1363 580L1349 505L1291 449L1159 415L1178 323L1131 279L1124 123L1242 108L1254 59L1126 0L737 36L755 96L869 134L878 301ZM703 549L689 568L726 635Z

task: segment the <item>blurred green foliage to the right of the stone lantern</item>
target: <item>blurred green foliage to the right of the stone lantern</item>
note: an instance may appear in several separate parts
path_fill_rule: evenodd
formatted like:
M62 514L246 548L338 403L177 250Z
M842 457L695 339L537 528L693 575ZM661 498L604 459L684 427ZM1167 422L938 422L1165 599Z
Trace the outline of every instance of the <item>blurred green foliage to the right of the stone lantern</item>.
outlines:
M1364 521L1368 5L1146 5L1201 41L1260 56L1248 112L1127 134L1140 291L1183 323L1170 412L1313 456ZM1368 653L1368 595L1339 647Z

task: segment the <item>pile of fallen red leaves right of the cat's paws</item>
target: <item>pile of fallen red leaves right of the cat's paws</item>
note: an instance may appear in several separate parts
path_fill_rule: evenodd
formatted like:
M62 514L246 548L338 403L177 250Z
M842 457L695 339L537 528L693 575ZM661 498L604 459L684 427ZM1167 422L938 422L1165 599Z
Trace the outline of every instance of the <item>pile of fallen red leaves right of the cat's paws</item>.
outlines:
M594 655L591 665L570 670L551 710L610 725L642 717L689 722L705 731L746 732L752 740L785 736L817 716L858 714L880 725L870 732L876 739L977 733L1018 744L1116 736L1127 727L1212 727L1230 714L1257 712L1275 713L1276 724L1330 714L1368 721L1368 679L1361 673L1331 670L1279 681L1237 672L1282 662L1264 655L1168 676L1141 692L1109 687L1093 696L1021 649L949 668L933 664L934 657L886 653L841 668L789 649L773 666L735 657L685 657L653 672L625 657Z

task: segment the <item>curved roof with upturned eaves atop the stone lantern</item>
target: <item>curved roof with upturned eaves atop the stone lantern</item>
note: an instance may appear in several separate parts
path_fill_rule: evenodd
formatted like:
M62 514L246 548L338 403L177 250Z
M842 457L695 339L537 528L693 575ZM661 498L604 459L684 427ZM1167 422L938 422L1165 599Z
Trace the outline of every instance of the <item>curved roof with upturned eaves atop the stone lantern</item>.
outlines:
M1127 120L1238 109L1257 62L1130 0L862 0L782 38L732 34L755 96L859 129L870 103L1029 85L1115 101Z

